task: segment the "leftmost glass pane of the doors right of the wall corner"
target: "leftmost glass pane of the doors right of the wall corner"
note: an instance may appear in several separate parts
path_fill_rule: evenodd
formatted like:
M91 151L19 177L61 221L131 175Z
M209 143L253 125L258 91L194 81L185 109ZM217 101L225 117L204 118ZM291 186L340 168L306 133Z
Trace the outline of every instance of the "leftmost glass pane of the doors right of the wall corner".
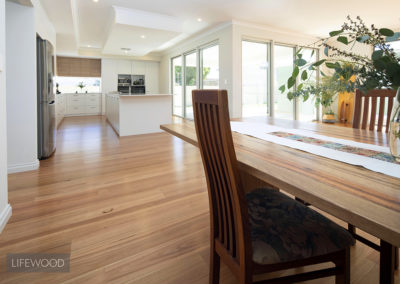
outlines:
M268 45L242 42L242 116L268 113Z

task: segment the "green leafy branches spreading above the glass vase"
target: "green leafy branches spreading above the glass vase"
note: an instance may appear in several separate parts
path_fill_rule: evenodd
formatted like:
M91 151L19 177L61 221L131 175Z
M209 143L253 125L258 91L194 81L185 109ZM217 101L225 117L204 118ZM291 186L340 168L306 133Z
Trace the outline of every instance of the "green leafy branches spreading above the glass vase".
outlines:
M329 40L332 38L350 48L340 49L330 45ZM316 104L329 106L334 95L342 91L353 92L356 88L364 92L379 88L397 89L400 87L400 58L387 42L399 39L400 33L387 28L378 29L374 25L368 27L360 17L353 20L348 16L340 30L330 32L329 37L313 44L323 47L327 58L305 62L306 60L299 56L302 50L300 49L296 53L297 59L294 61L295 68L292 75L288 78L286 86L281 86L279 90L282 93L286 89L290 90L298 81L304 85L290 92L287 95L289 99L301 96L307 100L313 96ZM364 44L374 48L375 51L371 57L358 55L352 51L355 43ZM328 76L318 70L322 66L331 69L333 75ZM316 86L310 84L311 76L307 70L320 72L320 84ZM351 80L353 76L355 82Z

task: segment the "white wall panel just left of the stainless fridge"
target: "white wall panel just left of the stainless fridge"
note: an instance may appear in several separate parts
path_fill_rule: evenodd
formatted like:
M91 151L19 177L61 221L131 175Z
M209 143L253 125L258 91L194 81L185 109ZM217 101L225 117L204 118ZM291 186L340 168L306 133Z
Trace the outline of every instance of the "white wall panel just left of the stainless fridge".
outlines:
M39 166L34 8L6 2L6 57L8 171L34 170Z

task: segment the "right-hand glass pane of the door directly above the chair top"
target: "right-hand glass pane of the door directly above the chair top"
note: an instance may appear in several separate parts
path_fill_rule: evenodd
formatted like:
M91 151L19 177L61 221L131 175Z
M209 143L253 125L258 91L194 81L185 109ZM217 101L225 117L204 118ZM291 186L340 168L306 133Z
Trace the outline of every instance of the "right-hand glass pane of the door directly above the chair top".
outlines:
M219 46L214 45L202 50L203 89L219 88Z

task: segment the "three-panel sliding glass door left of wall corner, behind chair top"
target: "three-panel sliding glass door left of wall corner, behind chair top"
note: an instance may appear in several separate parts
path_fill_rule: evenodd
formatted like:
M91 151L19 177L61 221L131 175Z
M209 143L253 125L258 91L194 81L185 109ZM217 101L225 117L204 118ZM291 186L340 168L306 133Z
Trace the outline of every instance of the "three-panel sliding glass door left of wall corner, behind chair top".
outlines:
M219 88L219 46L207 45L171 58L171 67L173 115L193 119L192 90Z

